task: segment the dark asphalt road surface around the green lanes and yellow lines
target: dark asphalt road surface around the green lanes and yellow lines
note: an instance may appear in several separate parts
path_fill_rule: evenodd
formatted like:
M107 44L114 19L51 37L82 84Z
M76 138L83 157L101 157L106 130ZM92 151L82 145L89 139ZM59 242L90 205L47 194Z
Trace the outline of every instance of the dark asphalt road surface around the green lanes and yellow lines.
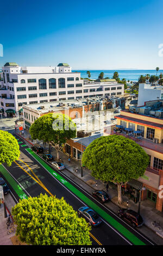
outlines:
M16 138L19 138L18 136L15 136ZM20 138L19 138L20 139ZM23 142L22 139L19 140L19 142ZM35 175L41 180L43 185L47 188L47 190L52 193L57 198L64 197L66 202L73 206L74 210L78 210L81 206L85 205L85 203L77 197L75 194L73 194L68 188L66 188L61 182L59 182L57 179L55 179L46 168L44 168L32 155L30 155L26 149L28 147L21 147L21 145L26 144L22 143L20 144L20 151L21 161L16 161L12 163L11 167L7 167L4 164L4 167L8 170L8 172L21 184L21 186L24 189L24 192L27 194L27 196L36 197L40 193L42 194L48 194L48 192L40 186L36 180L32 178L32 176L35 178L35 176L32 174L32 172L29 171L28 166L33 170ZM25 164L26 163L26 164ZM18 164L20 166L18 166ZM26 172L25 172L26 171ZM29 176L32 175L32 176ZM60 173L59 173L60 174ZM60 174L61 175L61 174ZM65 176L64 176L64 179ZM110 212L108 209L105 208L102 204L98 203L95 199L91 197L86 191L83 190L83 188L80 188L78 185L74 184L73 181L68 179L68 182L70 182L74 187L77 187L79 191L81 191L85 196L90 198L93 202L98 204L98 206L101 207L105 212L107 212L109 215L115 218L119 223L121 223L125 228L127 228L131 233L133 233L135 236L139 237L141 241L143 241L146 245L151 245L151 241L139 233L138 231L134 230L133 228L130 228L129 225L125 224L120 220L120 218L116 217L115 214ZM14 194L17 200L18 198L15 191L13 191L12 187L11 192ZM126 239L120 232L118 232L114 227L112 227L107 221L103 220L102 224L98 227L92 227L91 230L91 240L92 245L131 245L132 243ZM153 242L152 242L153 243Z

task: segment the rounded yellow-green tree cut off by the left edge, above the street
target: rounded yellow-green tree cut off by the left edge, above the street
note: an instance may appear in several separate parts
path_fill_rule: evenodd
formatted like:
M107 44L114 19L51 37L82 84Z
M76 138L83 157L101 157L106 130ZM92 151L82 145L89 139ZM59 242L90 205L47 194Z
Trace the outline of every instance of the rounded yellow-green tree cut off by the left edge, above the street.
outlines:
M11 133L0 130L0 164L7 163L11 166L11 163L18 160L19 156L17 139Z

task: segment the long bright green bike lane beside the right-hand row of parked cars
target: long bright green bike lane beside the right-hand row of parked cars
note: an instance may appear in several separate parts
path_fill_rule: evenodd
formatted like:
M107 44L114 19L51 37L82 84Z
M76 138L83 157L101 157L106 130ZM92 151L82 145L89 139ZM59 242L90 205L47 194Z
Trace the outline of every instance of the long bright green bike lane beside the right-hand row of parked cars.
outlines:
M57 180L61 182L62 185L73 192L77 197L83 200L83 202L90 208L95 210L105 221L107 221L112 227L114 227L118 233L122 234L126 239L128 239L134 245L146 245L145 242L141 241L137 236L131 233L127 228L125 228L121 223L115 220L107 214L103 209L101 209L97 204L92 202L87 196L80 192L76 187L74 187L70 182L62 178L54 169L52 169L45 161L43 161L37 154L35 154L30 148L26 149L30 155L32 155L51 175L53 175Z

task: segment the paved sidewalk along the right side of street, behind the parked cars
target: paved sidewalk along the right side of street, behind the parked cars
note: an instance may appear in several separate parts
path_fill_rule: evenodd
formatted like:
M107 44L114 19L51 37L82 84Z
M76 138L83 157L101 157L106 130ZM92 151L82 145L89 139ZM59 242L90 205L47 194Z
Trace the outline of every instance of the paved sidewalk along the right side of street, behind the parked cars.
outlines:
M17 131L17 135L18 135L18 131ZM32 141L29 133L27 133L26 130L24 130L24 135L21 137L26 140L26 144L29 145L29 147L31 147L32 144L40 144L41 147L43 147L43 142L41 141L39 142L38 140ZM46 150L48 152L48 145L47 147L45 147L45 152ZM55 148L51 149L51 154L53 155L54 159L57 160L56 159L57 153ZM74 180L74 182L76 182L79 186L83 187L89 193L92 193L95 190L106 191L105 184L102 181L96 180L95 178L93 178L91 176L91 171L89 169L86 168L85 170L83 170L83 177L81 177L80 161L76 161L71 158L71 162L68 163L68 155L66 155L62 151L60 151L59 155L61 157L62 163L64 163L66 168L62 170L62 172L65 175L67 175L69 178ZM77 173L74 173L73 171L74 166L78 166ZM97 185L96 185L96 182L97 182ZM117 204L115 204L115 198L117 197L116 187L109 185L108 194L109 194L109 197L111 198L111 202L106 203L105 206L111 211L113 211L115 214L117 214L118 209L120 209L120 207ZM124 204L126 204L127 201L129 202L129 206L128 206L129 209L137 211L138 203L135 204L133 200L129 200L127 196L122 196L122 197L123 197ZM140 214L143 217L145 225L140 227L139 230L143 234L148 236L151 240L153 240L156 244L163 245L163 239L162 239L163 238L163 213L157 211L155 209L154 203L146 199L141 202ZM160 222L162 231L158 231L157 228L153 228L151 225L152 221ZM0 241L0 244L1 244L1 241Z

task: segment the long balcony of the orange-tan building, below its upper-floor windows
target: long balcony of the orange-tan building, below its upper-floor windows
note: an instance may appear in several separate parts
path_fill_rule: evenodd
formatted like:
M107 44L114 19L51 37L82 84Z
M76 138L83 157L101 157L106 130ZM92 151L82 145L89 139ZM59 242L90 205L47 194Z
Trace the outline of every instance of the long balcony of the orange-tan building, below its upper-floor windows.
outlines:
M149 139L144 139L144 138L139 139L134 136L127 135L126 132L111 131L111 135L113 135L113 134L132 139L133 141L135 141L137 144L139 144L143 148L151 149L151 150L154 150L154 151L157 151L157 152L163 154L163 143L156 144Z

